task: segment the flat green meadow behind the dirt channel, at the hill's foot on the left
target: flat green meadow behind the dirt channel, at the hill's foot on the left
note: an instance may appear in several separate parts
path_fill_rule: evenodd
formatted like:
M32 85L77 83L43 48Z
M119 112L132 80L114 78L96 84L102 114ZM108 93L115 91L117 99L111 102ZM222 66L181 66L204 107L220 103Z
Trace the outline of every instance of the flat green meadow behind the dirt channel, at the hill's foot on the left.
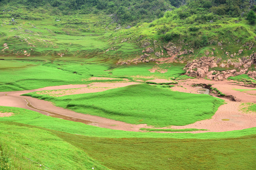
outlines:
M171 66L168 68L167 73L161 74L157 72L150 73L148 69L153 67L152 64L141 65L139 67L113 67L110 63L102 64L102 61L97 60L49 60L1 60L0 71L3 79L0 82L0 91L30 90L55 85L90 84L95 82L89 80L91 77L117 78L117 80L97 80L97 82L122 81L118 77L136 81L136 76L146 81L155 77L171 79L173 83L175 81L172 79L175 78L189 78L188 76L181 75L183 73L183 67L181 65Z

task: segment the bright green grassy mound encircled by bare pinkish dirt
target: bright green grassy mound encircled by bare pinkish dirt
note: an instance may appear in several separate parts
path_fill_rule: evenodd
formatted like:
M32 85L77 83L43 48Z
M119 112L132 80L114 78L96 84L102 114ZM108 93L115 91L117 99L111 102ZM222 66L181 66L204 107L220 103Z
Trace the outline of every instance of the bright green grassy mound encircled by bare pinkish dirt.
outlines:
M222 104L222 100L209 95L173 92L146 84L62 97L23 95L80 113L156 127L182 126L210 119Z

